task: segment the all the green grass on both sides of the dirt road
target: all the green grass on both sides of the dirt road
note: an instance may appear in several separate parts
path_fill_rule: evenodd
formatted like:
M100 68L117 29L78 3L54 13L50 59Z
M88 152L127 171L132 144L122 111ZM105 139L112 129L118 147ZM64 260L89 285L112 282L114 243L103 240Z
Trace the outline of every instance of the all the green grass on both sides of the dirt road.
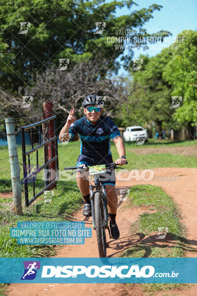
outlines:
M152 141L152 142L151 142ZM164 143L165 140L162 142ZM156 141L144 144L143 148L149 148ZM196 145L193 141L179 141L167 143L171 146L190 146ZM152 143L152 144L151 144ZM156 143L155 147L162 146L161 143ZM197 167L197 157L180 156L171 154L148 154L136 155L127 148L138 148L137 145L126 143L127 159L129 164L125 166L131 168L156 168L156 167ZM26 150L30 149L27 147ZM118 158L115 145L111 143L113 159ZM23 197L23 216L17 216L12 209L12 198L0 198L0 257L50 257L54 256L57 250L56 246L51 245L18 245L15 238L10 238L10 227L16 227L19 221L66 221L70 215L79 210L82 205L82 197L78 190L74 177L68 181L68 173L64 171L66 166L75 166L77 156L80 151L80 142L70 142L68 145L59 145L59 169L61 179L58 182L57 189L54 189L54 196L50 203L45 203L43 195L37 198L36 202L26 208L24 206ZM1 159L8 157L7 147L0 148ZM21 146L18 146L19 162L22 163ZM35 153L31 155L31 164L35 164ZM43 164L43 149L38 152L39 165ZM0 183L0 192L11 191L10 180L10 165L9 159L0 160L0 180L7 182L10 187ZM23 179L23 170L21 166L21 180ZM65 182L66 181L66 182ZM44 187L42 173L37 175L35 181L36 192ZM33 196L33 186L29 185L30 198ZM22 186L22 194L24 189ZM158 230L158 226L167 226L169 233L174 238L175 243L169 247L165 244L163 247L154 246L151 244L138 243L126 250L123 257L183 257L184 249L191 250L188 247L187 240L184 238L184 230L179 222L179 213L172 199L157 186L151 185L136 185L131 187L130 191L130 206L140 207L141 205L148 206L151 210L156 210L154 213L145 213L139 216L137 222L131 225L132 231L140 232L143 235L151 234ZM165 286L161 286L165 285ZM171 285L171 286L170 286ZM175 289L174 284L145 284L140 285L143 291L149 295L154 291L167 291ZM177 284L179 285L179 284ZM183 285L179 285L182 287ZM5 285L1 285L0 295L4 295ZM171 288L170 288L171 287ZM165 289L164 289L165 288Z

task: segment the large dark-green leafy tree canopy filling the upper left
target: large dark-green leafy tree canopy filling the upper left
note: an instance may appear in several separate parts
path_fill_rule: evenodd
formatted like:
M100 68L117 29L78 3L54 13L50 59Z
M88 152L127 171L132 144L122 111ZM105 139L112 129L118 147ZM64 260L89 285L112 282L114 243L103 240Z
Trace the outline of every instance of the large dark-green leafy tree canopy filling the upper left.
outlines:
M131 11L129 15L115 16L117 8L131 6L132 0L1 0L0 24L2 37L9 50L16 55L12 62L14 74L0 76L1 85L18 90L18 86L31 84L37 73L58 63L60 58L70 59L70 64L93 58L98 51L111 58L114 70L118 70L115 59L124 50L114 51L107 43L107 35L118 28L142 28L161 5ZM25 24L21 31L21 22ZM94 34L95 22L105 22L103 34ZM19 34L20 33L20 34ZM127 59L131 58L127 56ZM125 67L128 63L125 60ZM111 68L111 65L110 65ZM106 74L104 74L106 75Z

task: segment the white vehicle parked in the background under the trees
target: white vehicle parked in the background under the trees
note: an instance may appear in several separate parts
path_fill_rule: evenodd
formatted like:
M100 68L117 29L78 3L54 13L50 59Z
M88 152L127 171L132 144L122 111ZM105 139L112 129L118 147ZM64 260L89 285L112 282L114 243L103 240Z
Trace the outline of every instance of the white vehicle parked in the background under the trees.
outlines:
M144 138L145 142L148 141L148 132L142 126L128 126L123 133L123 139L126 142L136 141L139 138Z

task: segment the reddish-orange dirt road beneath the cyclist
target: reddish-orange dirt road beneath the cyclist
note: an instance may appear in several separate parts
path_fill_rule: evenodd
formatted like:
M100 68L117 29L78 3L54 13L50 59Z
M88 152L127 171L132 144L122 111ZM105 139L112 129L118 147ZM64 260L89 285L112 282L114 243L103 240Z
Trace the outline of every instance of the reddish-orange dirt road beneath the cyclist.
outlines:
M159 168L154 169L155 177L172 175L176 181L127 181L117 182L117 189L129 188L136 184L151 184L161 186L164 191L169 194L178 204L181 218L187 228L187 239L190 241L190 251L186 257L197 257L197 169L189 168ZM125 174L125 173L124 173ZM107 240L109 242L107 248L107 256L118 256L122 251L132 247L139 237L131 236L131 223L137 220L139 214L147 212L146 207L138 209L126 209L124 207L126 201L121 201L118 204L117 223L120 229L120 239ZM86 226L92 225L92 218L85 218L82 211L76 213L73 221L84 221ZM145 237L146 238L146 237ZM98 249L96 243L96 233L93 231L93 237L86 239L85 245L67 245L59 250L56 257L98 257ZM138 285L127 286L125 284L12 284L9 286L9 296L141 296L145 295ZM196 296L197 285L191 289L173 290L169 292L157 292L157 296L163 295L181 295L181 296Z

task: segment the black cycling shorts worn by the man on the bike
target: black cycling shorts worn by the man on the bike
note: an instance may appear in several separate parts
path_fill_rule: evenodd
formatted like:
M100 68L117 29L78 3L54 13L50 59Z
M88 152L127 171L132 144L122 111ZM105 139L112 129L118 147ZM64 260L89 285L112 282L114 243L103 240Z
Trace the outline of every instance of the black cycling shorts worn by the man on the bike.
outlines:
M79 166L80 164L87 164L88 166L92 165L99 165L99 164L110 164L113 162L112 156L107 155L104 158L91 158L87 155L80 154L77 158L76 166ZM116 176L115 176L115 170L112 169L106 169L106 173L99 175L99 181L103 185L110 184L115 185L116 184Z

